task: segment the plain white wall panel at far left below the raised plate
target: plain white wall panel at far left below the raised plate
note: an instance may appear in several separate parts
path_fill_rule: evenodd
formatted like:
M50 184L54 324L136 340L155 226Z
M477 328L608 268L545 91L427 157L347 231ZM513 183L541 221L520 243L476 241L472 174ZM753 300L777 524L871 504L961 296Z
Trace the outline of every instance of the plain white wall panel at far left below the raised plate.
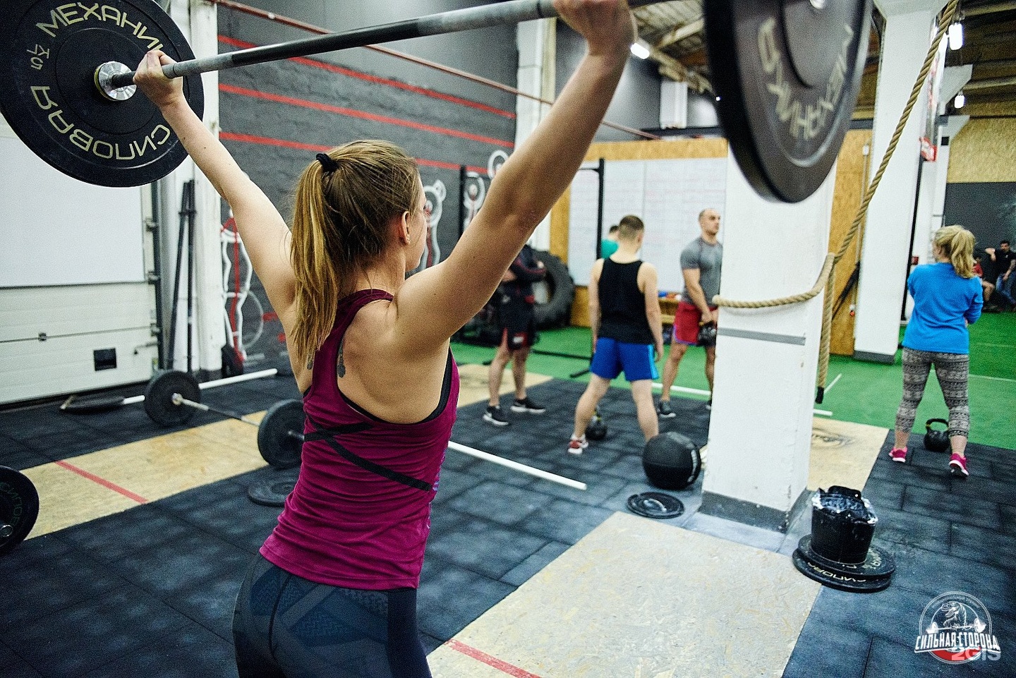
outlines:
M71 179L0 124L0 288L145 280L140 188Z

